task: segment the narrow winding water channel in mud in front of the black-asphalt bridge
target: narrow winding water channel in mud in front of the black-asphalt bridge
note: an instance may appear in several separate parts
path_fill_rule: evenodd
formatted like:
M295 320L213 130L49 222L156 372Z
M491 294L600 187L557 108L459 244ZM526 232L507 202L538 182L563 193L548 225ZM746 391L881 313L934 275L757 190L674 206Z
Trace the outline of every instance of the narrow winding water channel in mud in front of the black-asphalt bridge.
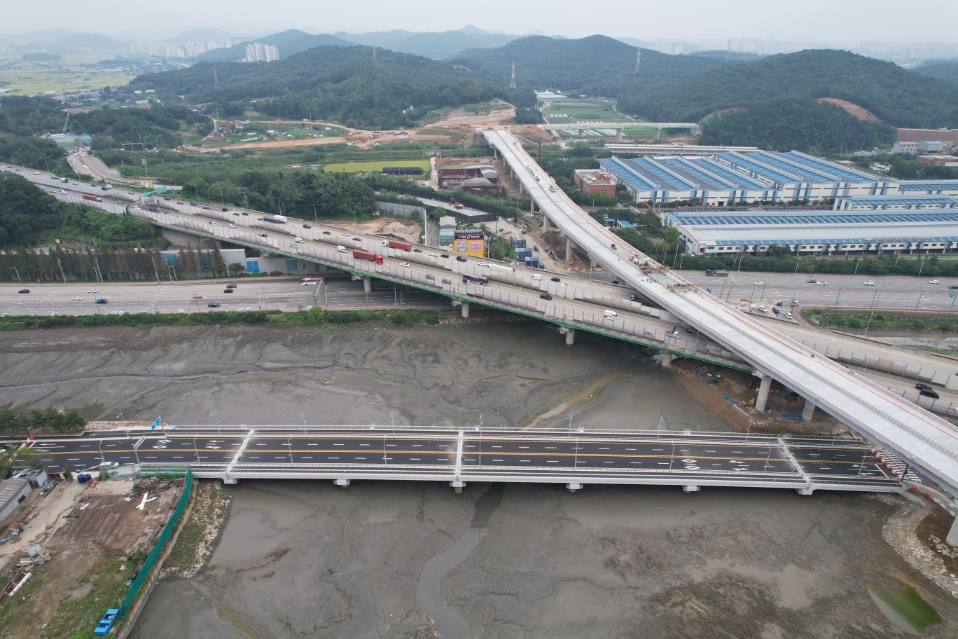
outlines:
M419 585L416 587L416 604L433 620L444 639L470 639L472 636L466 620L443 603L443 578L465 561L472 549L486 536L490 515L499 507L502 492L505 490L505 484L492 484L489 491L476 500L475 513L472 514L468 531L452 544L452 548L429 559L429 563L425 564L425 569L422 570Z

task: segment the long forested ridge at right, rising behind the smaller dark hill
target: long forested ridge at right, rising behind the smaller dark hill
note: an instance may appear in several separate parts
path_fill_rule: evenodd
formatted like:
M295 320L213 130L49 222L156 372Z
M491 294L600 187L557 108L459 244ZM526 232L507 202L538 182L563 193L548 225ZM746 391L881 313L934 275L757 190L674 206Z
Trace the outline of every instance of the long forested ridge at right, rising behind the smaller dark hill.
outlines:
M686 122L785 96L847 100L891 126L958 126L958 86L892 62L831 50L712 69L664 90L620 97L619 110L650 120Z

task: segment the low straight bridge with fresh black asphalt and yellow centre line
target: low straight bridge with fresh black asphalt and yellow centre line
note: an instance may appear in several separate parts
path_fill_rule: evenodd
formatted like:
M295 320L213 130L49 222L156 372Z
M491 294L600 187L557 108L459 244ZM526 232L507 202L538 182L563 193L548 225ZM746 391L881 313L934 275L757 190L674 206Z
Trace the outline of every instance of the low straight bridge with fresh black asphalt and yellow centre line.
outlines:
M251 427L87 433L29 444L51 472L189 465L200 477L307 477L900 491L904 469L855 438L733 433ZM893 470L897 470L893 472Z

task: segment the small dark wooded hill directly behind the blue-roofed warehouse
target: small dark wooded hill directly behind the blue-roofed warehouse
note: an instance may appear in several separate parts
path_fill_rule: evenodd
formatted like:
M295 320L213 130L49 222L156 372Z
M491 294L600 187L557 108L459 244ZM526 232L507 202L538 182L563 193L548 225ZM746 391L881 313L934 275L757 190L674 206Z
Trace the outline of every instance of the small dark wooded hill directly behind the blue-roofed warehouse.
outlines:
M858 120L840 106L803 96L773 98L710 116L702 124L701 142L848 153L891 146L896 137L891 126Z

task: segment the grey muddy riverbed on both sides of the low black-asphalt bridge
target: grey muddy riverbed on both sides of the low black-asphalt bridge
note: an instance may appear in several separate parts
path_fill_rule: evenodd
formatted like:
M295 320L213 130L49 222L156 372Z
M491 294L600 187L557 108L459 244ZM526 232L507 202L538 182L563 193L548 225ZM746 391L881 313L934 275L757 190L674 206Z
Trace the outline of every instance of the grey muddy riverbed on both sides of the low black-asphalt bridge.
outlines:
M0 403L88 419L732 427L652 354L527 322L24 331L0 358ZM882 539L900 497L490 488L241 482L207 567L161 582L134 636L420 639L430 617L448 639L906 636L874 583L914 585L946 619L931 636L958 634L955 600Z

